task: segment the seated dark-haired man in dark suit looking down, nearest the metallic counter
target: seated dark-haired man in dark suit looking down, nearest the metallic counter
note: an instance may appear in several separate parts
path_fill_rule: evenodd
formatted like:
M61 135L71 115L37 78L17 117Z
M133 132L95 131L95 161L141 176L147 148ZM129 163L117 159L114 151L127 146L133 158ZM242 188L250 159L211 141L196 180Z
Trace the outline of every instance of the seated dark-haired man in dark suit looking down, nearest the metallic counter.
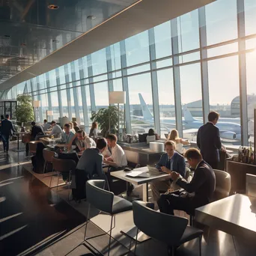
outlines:
M185 189L186 192L183 195L161 195L157 204L162 213L174 215L174 210L184 210L193 215L195 208L209 204L210 198L213 196L216 185L213 168L207 165L196 148L187 150L185 157L189 165L195 169L194 177L189 183L177 172L171 172L171 179L176 180L176 184Z

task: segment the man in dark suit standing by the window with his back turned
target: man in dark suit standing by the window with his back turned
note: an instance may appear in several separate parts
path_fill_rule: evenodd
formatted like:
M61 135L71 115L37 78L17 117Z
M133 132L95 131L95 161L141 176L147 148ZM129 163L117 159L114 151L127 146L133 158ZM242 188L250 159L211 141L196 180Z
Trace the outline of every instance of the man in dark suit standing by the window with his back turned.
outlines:
M219 162L219 150L222 142L219 137L219 128L216 124L219 120L219 113L210 112L208 123L198 129L197 144L201 150L204 161L213 169L216 169Z

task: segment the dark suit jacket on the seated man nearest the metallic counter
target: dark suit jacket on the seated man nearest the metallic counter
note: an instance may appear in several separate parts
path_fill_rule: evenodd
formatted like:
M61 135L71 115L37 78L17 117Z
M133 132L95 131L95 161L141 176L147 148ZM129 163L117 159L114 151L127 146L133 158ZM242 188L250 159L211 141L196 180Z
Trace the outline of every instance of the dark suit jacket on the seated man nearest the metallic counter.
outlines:
M212 198L216 186L216 177L213 168L202 160L195 169L194 177L190 183L179 178L176 184L185 189L186 192L195 193L191 197L191 203L196 208L210 203L210 198Z

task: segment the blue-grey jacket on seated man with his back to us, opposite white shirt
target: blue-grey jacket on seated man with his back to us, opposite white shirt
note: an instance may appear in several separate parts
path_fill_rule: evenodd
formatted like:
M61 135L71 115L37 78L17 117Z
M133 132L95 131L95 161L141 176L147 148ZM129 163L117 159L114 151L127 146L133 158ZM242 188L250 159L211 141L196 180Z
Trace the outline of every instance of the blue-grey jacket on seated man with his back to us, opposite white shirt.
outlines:
M103 173L103 155L97 148L88 148L82 153L79 162L76 166L77 169L83 170L88 174L91 179L94 175L105 180Z

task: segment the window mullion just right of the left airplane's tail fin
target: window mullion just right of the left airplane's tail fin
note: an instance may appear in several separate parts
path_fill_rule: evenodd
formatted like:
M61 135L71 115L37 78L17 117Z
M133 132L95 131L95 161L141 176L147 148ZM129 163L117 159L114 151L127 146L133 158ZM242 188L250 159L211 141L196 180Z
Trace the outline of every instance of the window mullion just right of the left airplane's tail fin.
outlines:
M148 30L148 40L149 40L149 53L150 53L150 74L151 74L151 88L152 88L152 98L153 98L154 126L156 129L156 132L159 135L161 135L157 72L153 71L153 70L156 70L156 62L154 61L156 59L156 46L155 46L155 33L153 28L150 28Z

